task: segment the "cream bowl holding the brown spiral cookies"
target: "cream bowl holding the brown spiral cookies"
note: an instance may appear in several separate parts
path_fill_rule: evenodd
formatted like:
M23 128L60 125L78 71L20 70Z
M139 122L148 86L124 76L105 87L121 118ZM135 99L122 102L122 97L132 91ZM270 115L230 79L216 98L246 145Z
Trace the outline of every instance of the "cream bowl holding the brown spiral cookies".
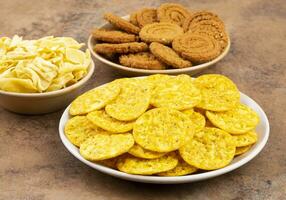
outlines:
M123 19L129 19L129 15L122 17ZM99 28L110 28L111 25L106 23ZM200 71L211 67L221 59L223 59L226 54L229 52L230 49L230 39L228 38L228 45L226 46L225 50L220 54L217 58L215 58L212 61L209 61L207 63L203 63L200 65L196 65L193 67L188 67L188 68L183 68L183 69L168 69L168 70L147 70L147 69L137 69L137 68L130 68L123 66L121 64L117 64L115 62L109 61L108 59L104 58L100 54L96 53L93 50L93 47L95 44L97 44L97 41L92 37L92 35L89 36L88 38L88 48L91 52L91 54L99 61L102 63L114 68L115 70L119 71L121 74L127 75L127 76L143 76L143 75L150 75L150 74L171 74L171 75L176 75L176 74L189 74L189 75L194 75L199 73Z

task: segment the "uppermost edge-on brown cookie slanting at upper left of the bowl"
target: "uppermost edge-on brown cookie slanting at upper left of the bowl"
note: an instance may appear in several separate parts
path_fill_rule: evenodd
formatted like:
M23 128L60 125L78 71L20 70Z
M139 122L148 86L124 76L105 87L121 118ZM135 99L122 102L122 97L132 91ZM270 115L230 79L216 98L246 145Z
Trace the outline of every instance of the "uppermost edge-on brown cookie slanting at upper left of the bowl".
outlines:
M105 13L104 19L109 21L109 23L116 26L117 28L126 31L127 33L138 34L140 31L139 27L134 26L132 23L128 22L127 20L122 19L121 17L114 15L112 13Z

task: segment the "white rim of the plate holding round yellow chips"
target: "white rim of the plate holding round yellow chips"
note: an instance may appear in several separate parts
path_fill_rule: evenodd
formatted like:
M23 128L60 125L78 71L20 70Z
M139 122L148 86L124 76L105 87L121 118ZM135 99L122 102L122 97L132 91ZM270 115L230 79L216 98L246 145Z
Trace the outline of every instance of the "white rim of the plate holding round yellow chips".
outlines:
M138 77L136 77L136 78L138 78ZM143 77L139 77L139 78L143 78ZM105 84L107 84L107 83L105 83ZM97 87L102 87L105 84L99 85ZM262 138L261 143L256 148L254 148L253 146L251 147L251 149L253 149L253 148L254 149L252 151L248 152L249 155L242 158L238 162L236 162L234 164L227 165L226 167L221 168L221 169L217 169L217 170L213 170L213 171L207 171L207 172L200 173L200 174L190 174L190 175L186 175L186 176L176 176L176 177L134 175L134 174L127 174L127 173L124 173L124 172L121 172L121 171L118 171L116 169L112 169L109 167L105 167L103 165L93 163L91 161L84 159L79 154L79 152L74 152L73 149L74 148L78 149L78 147L74 146L67 139L67 137L64 134L64 126L66 123L65 118L67 117L69 119L71 117L69 115L69 108L70 108L71 104L66 107L66 109L64 110L64 112L60 118L59 135L60 135L60 139L61 139L62 143L64 144L65 148L74 157L76 157L78 160L80 160L84 164L88 165L89 167L96 169L97 171L100 171L102 173L105 173L105 174L108 174L108 175L111 175L111 176L114 176L117 178L129 180L129 181L153 183L153 184L178 184L178 183L196 182L196 181L201 181L201 180L213 178L213 177L231 172L231 171L245 165L250 160L252 160L254 157L256 157L262 151L262 149L265 147L265 145L268 141L268 138L269 138L269 134L270 134L270 125L269 125L269 120L268 120L266 113L264 112L264 110L261 108L261 106L256 101L254 101L252 98L250 98L249 96L247 96L243 92L240 92L240 99L247 99L247 101L249 101L249 102L251 102L251 104L255 105L256 109L258 109L259 112L262 114L262 116L260 116L260 117L263 117L264 121L265 121L265 124L264 124L265 125L265 136Z

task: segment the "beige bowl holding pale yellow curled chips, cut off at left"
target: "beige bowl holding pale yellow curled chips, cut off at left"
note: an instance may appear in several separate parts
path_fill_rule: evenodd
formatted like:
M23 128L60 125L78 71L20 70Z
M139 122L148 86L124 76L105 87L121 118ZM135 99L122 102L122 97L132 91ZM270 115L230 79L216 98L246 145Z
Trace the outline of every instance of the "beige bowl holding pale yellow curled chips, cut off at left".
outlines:
M17 93L0 90L0 105L6 110L20 114L44 114L57 111L67 106L80 89L91 78L94 72L94 62L80 81L61 90L45 93Z

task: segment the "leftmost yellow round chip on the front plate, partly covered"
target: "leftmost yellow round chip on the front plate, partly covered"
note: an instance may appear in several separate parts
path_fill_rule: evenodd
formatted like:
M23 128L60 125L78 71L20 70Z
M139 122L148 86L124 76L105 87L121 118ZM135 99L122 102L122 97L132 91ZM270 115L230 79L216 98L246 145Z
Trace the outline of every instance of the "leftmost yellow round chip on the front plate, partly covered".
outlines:
M87 138L98 133L105 133L105 131L92 124L86 116L75 116L65 125L65 135L73 145L78 147Z

